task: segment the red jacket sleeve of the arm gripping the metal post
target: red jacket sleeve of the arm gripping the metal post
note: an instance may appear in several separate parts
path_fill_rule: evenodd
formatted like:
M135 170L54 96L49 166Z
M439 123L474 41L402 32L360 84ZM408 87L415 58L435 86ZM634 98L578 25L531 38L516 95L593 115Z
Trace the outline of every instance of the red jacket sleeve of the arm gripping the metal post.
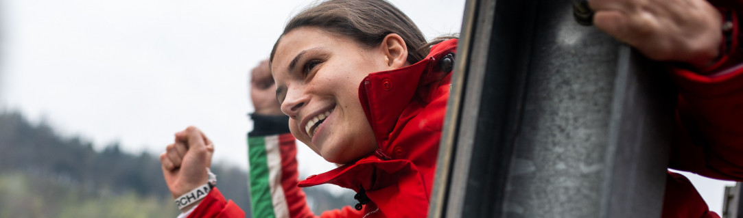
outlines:
M672 69L679 97L669 167L743 181L743 52L739 18L732 17L735 27L727 47L733 49L716 64L722 67Z

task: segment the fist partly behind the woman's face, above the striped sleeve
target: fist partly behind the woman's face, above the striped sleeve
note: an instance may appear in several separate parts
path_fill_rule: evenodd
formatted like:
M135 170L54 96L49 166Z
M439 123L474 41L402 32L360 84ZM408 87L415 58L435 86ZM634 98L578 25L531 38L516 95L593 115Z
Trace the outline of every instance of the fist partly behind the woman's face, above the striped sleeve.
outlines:
M268 61L261 61L250 73L250 101L259 115L283 115L276 100L276 84L268 68Z

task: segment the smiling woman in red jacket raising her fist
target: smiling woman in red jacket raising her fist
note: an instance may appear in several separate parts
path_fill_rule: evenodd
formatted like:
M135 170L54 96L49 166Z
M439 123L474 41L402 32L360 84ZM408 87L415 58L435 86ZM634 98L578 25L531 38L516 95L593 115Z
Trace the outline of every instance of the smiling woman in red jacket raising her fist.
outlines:
M382 0L325 1L294 16L270 56L291 135L249 134L253 217L314 216L299 187L324 183L356 191L359 202L323 216L425 216L456 44L429 44ZM253 120L259 130L280 119L256 113ZM294 138L340 167L298 183ZM192 162L208 166L213 146L192 127L175 141L160 159L173 197L188 200L207 180ZM191 217L241 216L216 190L195 198L181 204L187 212L198 203Z

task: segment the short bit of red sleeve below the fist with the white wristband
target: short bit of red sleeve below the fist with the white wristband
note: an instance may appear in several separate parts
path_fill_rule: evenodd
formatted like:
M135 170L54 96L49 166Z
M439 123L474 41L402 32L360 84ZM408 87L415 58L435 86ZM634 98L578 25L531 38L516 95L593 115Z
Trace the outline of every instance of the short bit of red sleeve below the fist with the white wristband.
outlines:
M245 217L245 212L232 200L224 200L222 193L214 188L188 217L242 218Z

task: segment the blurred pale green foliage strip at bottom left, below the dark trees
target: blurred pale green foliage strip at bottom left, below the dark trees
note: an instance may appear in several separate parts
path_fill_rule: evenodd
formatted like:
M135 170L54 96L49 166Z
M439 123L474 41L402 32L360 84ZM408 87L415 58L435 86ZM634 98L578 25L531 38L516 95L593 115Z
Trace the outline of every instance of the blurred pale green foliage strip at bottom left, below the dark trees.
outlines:
M176 217L178 209L163 197L135 192L100 191L83 196L79 187L34 180L22 172L0 175L0 217Z

